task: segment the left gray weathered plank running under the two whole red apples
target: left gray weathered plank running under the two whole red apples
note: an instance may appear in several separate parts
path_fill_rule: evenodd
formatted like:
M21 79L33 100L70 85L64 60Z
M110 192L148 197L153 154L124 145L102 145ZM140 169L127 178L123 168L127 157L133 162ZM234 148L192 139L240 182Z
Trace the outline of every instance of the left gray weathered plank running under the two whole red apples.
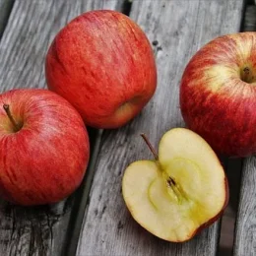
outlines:
M0 93L14 88L44 88L44 56L55 33L82 12L120 10L121 6L119 0L16 0L0 43ZM72 238L67 228L76 196L33 208L1 201L0 255L64 255L65 239Z

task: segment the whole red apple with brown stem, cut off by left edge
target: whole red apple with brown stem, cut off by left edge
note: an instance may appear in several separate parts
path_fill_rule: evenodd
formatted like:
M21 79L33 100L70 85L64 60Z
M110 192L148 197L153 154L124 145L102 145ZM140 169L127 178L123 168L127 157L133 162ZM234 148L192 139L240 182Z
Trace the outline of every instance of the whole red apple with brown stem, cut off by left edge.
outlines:
M0 95L0 196L19 205L55 203L81 183L89 160L77 110L47 90Z

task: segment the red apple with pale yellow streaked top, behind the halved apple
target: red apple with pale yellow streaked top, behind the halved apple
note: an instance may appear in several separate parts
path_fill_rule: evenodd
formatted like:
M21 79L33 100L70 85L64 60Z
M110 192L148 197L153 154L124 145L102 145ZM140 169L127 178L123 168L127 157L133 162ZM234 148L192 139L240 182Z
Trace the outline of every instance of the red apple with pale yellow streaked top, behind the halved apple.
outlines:
M180 107L186 125L224 156L254 155L255 83L256 33L212 40L192 57L183 73Z

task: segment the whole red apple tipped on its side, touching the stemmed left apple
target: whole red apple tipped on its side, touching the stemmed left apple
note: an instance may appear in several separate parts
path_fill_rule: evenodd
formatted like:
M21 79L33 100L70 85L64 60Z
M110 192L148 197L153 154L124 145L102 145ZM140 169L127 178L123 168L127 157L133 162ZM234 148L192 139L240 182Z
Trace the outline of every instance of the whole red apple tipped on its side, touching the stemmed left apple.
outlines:
M146 34L109 10L82 14L57 33L45 59L48 89L96 128L117 128L154 95L157 70Z

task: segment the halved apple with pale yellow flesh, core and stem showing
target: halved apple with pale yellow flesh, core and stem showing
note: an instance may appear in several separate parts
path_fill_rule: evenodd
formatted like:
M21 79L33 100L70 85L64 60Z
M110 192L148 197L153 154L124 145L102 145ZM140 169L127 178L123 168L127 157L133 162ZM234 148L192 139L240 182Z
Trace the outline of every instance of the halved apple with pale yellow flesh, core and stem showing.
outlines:
M138 160L125 170L124 201L136 222L161 239L183 242L223 214L228 202L224 168L196 133L175 128L160 140L155 160Z

